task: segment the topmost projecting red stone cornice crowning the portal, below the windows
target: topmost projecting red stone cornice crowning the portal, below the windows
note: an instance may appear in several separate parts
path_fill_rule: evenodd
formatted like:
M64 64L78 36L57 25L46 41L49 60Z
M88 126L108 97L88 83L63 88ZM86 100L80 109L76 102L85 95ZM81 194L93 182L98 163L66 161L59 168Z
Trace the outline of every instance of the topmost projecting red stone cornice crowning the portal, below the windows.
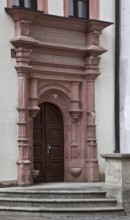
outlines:
M75 18L60 17L54 15L47 15L41 11L34 11L23 8L5 8L6 12L16 21L29 20L33 25L43 25L46 27L61 28L64 30L92 32L102 31L104 28L110 26L111 22L99 20L81 20Z

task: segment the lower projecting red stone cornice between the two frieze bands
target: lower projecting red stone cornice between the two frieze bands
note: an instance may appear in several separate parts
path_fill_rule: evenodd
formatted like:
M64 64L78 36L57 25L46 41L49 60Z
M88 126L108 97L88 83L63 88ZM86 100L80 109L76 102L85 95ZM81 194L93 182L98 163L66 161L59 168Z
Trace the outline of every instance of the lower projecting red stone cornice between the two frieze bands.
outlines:
M33 45L33 51L36 50L42 50L42 49L48 49L51 50L52 53L57 54L58 52L64 52L64 54L67 54L68 52L73 52L75 54L80 54L79 57L85 57L85 56L99 56L105 52L107 52L106 49L104 49L101 46L96 45L88 45L88 46L81 46L81 45L67 45L67 44L61 44L56 42L38 42L35 39L29 40L28 37L20 37L20 38L13 38L11 40L11 43L16 47L28 47L32 49ZM69 54L67 54L69 56Z

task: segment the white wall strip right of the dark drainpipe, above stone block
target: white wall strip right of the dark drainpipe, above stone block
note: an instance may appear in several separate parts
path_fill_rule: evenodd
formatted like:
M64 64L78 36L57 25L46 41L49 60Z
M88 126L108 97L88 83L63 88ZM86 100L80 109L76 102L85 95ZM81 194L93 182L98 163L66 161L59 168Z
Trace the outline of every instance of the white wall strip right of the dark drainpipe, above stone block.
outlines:
M130 1L121 1L120 16L120 150L130 154Z

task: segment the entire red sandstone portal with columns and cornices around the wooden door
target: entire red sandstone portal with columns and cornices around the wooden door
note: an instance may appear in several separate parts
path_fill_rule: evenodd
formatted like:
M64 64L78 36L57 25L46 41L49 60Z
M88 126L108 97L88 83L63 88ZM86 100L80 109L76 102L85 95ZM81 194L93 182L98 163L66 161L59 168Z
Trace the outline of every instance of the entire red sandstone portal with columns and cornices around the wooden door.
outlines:
M64 124L64 181L98 181L94 83L106 52L101 31L111 23L75 20L24 9L7 9L15 21L19 88L18 184L31 184L33 117L41 103L56 105Z

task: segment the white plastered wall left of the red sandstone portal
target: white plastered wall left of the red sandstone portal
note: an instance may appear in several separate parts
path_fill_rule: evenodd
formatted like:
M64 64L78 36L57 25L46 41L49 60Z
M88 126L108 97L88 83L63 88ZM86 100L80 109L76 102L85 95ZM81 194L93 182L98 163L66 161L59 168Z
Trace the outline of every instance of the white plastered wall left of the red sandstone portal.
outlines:
M0 183L17 179L17 74L10 43L14 22L0 1Z

